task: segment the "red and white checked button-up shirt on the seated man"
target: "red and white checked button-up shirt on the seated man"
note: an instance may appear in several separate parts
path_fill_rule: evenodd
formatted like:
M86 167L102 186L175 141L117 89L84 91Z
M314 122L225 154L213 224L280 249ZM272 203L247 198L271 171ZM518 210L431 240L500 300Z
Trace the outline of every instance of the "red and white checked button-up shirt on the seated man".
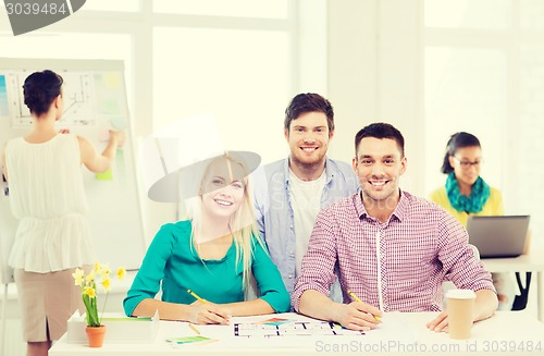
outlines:
M495 291L468 240L443 208L406 192L385 223L367 213L359 194L343 198L318 216L292 304L298 310L307 290L327 295L336 275L344 303L350 290L383 311L440 310L445 280Z

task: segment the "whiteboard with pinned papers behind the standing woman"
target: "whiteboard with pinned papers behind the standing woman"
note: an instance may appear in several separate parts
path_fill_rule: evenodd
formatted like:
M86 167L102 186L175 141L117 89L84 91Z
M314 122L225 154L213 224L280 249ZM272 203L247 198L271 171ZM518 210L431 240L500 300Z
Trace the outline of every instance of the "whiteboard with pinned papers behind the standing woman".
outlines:
M111 174L97 175L82 165L90 212L88 221L97 261L112 268L138 269L145 253L135 151L128 115L124 63L102 60L28 60L0 58L0 150L9 138L23 136L32 123L23 101L24 79L52 70L64 79L64 114L57 127L87 137L101 152L108 130L123 130ZM0 161L1 164L1 161ZM0 182L0 282L13 280L8 256L16 220L11 214L9 184ZM8 193L8 194L7 194Z

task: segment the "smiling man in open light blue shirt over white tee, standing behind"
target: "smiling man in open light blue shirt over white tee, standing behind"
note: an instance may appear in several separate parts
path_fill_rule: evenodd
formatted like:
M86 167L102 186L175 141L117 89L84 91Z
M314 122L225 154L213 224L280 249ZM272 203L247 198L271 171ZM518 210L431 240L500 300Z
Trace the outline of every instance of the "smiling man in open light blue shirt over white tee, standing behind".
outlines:
M295 96L285 110L284 134L290 155L254 177L257 224L290 294L318 212L356 193L359 183L350 164L326 157L334 136L327 99L312 93Z

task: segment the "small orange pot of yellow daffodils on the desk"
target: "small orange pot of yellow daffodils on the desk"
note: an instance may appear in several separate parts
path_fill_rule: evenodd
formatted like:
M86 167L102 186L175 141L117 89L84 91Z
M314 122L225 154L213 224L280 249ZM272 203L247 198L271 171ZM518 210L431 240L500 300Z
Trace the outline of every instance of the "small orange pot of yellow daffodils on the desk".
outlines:
M77 268L72 277L74 278L75 285L82 287L83 303L85 304L86 319L87 319L87 337L90 347L101 347L106 332L106 326L102 324L103 309L108 295L110 294L110 266L108 263L95 263L95 267L85 274L85 271ZM116 271L118 279L123 279L126 271L124 268L119 268ZM100 317L98 315L97 302L97 284L106 292L106 300L102 306Z

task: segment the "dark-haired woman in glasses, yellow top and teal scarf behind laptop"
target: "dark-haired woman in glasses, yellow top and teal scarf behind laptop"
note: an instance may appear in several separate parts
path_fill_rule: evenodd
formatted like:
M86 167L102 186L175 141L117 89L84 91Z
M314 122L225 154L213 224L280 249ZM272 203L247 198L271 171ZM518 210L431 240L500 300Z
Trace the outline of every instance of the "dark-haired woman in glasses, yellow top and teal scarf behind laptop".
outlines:
M442 164L446 184L431 193L430 199L467 228L469 216L504 214L500 191L487 185L480 176L482 148L472 134L459 132L449 138ZM516 286L508 273L492 273L497 290L498 309L510 310Z

